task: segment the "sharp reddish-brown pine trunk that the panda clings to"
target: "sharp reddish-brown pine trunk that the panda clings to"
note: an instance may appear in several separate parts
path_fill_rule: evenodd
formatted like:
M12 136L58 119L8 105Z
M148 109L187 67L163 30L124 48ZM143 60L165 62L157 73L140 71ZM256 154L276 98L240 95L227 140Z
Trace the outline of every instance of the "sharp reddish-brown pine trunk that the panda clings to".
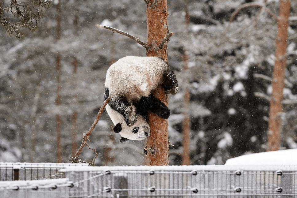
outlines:
M168 62L167 44L161 49L160 43L169 33L167 16L167 0L150 0L146 9L147 26L148 26L148 45L147 56L157 56ZM153 94L162 103L168 106L168 96L165 95L164 89L159 86ZM149 112L148 123L151 128L150 136L147 138L147 147L155 150L154 153L147 152L147 165L160 166L168 165L168 120L158 117L156 114Z

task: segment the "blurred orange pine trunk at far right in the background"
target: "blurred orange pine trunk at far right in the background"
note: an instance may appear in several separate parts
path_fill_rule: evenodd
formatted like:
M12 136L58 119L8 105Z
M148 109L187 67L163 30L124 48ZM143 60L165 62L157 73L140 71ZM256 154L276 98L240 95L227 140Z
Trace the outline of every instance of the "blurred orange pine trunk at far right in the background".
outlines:
M272 94L270 100L268 123L267 151L280 148L281 113L284 89L284 74L286 69L287 29L290 16L290 0L281 0L279 18L277 21L276 61L272 74Z

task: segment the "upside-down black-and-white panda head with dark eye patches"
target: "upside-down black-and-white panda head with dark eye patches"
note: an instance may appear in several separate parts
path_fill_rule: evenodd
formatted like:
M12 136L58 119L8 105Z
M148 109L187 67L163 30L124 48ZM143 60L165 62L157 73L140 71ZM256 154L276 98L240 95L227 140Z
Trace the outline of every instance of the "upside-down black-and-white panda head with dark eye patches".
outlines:
M122 136L120 142L144 140L149 136L150 127L145 119L138 115L137 122L134 125L128 126L125 122L118 123L114 127L114 132L120 133Z

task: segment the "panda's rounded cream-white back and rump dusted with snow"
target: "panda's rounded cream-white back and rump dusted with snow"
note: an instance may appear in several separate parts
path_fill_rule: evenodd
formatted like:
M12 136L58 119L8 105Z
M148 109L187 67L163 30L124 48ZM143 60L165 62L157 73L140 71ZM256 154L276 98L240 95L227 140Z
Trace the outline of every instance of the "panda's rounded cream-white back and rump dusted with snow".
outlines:
M105 86L110 95L125 95L131 100L148 96L162 81L167 63L158 57L127 56L119 59L106 73Z

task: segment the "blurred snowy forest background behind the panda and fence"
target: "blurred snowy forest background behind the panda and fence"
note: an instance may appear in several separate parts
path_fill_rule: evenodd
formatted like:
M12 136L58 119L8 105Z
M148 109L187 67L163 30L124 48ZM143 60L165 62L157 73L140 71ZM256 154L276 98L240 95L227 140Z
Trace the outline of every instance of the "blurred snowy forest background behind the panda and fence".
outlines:
M267 150L279 3L168 0L174 33L168 64L179 83L169 96L169 165L182 164L187 115L191 165ZM109 66L146 56L140 44L95 24L146 41L146 6L143 0L54 0L38 29L22 30L24 38L0 28L0 162L69 162L103 103ZM297 0L291 0L280 149L297 148L296 43ZM104 111L90 136L95 165L144 165L146 141L120 143L112 128ZM80 157L94 152L84 148Z

